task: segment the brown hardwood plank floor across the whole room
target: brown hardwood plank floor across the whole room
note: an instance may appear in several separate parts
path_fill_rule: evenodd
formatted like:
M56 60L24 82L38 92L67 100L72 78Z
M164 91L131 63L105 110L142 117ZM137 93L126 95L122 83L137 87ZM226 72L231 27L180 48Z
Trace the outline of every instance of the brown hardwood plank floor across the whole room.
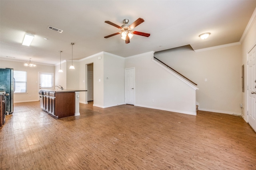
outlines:
M89 103L56 119L27 102L6 119L1 170L256 170L256 133L233 115Z

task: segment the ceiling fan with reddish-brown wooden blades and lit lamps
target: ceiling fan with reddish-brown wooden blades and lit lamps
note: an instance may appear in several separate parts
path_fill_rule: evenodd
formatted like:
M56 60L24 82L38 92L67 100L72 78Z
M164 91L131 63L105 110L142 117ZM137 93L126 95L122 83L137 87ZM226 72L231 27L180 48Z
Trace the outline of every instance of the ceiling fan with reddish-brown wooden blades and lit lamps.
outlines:
M129 20L128 19L124 19L124 25L119 26L116 25L115 23L112 23L110 21L105 21L106 23L113 25L114 27L117 27L120 29L120 32L108 35L104 38L109 38L112 37L114 35L118 35L121 34L122 35L122 39L125 40L125 43L130 43L130 39L133 37L134 34L136 35L141 35L144 37L149 37L150 34L149 33L143 33L143 32L139 32L139 31L133 31L132 29L134 29L136 26L140 25L142 22L144 22L144 20L142 18L138 18L136 21L134 21L131 25L128 24Z

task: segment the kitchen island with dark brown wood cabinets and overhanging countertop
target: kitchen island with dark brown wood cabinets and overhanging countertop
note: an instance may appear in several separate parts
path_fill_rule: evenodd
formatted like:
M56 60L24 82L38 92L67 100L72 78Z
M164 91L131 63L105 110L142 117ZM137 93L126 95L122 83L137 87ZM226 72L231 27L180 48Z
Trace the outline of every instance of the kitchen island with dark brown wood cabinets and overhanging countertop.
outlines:
M56 118L80 115L79 92L87 90L40 90L40 107Z

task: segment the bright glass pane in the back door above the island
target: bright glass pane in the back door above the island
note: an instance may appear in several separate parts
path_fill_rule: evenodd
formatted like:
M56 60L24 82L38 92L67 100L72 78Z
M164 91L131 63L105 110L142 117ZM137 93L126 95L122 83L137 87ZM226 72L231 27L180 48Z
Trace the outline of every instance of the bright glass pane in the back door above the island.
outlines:
M53 73L39 73L39 86L40 89L53 88Z

